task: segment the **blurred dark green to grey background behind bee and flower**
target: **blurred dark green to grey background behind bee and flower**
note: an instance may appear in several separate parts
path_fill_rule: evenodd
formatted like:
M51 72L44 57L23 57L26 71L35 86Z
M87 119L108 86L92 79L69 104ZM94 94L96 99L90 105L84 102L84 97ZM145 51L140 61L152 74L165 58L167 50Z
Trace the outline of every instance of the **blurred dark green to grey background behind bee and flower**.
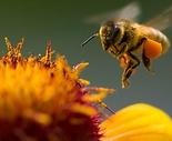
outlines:
M6 53L4 37L16 44L26 39L23 54L43 54L47 40L52 41L55 53L65 54L70 64L89 61L82 78L91 85L114 88L117 92L105 99L109 107L118 110L135 102L156 105L172 115L172 51L153 61L155 74L149 73L141 64L131 77L129 89L121 88L121 74L117 60L104 52L100 39L81 48L81 42L99 24L85 23L91 16L114 11L132 0L6 0L0 2L0 53ZM171 0L138 0L141 7L140 22L148 21L172 7ZM172 40L172 28L164 33Z

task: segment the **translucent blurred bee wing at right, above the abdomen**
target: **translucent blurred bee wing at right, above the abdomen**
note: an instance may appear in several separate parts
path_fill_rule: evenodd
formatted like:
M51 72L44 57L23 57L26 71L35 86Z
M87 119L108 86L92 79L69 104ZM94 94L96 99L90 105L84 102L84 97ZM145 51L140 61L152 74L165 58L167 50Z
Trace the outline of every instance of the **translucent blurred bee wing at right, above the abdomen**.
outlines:
M172 26L172 6L158 17L144 23L145 26L153 27L159 30L165 30Z

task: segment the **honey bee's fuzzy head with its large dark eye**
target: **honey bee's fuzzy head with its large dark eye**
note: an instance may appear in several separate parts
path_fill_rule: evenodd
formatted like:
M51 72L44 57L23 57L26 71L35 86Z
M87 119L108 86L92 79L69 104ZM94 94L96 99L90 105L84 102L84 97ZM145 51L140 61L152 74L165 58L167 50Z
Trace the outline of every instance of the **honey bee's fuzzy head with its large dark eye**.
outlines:
M99 30L99 36L104 42L114 42L115 38L120 34L120 27L113 21L103 23Z

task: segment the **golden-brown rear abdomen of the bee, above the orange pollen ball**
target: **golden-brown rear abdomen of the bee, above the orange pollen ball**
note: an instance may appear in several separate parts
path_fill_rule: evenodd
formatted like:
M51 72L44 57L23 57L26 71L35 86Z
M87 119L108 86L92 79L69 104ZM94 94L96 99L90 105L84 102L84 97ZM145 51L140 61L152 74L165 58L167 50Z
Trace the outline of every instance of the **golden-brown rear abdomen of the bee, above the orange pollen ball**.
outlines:
M165 34L151 27L141 27L142 33L162 44L162 53L165 53L170 47L170 41Z

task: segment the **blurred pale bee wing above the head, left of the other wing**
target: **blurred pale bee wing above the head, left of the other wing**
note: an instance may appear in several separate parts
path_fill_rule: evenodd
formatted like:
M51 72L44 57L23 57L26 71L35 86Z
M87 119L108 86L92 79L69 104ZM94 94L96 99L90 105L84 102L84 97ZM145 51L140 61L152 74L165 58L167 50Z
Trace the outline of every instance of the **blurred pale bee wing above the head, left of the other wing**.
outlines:
M136 2L131 2L127 4L125 7L114 10L114 11L109 11L95 16L91 16L84 19L85 23L102 23L103 21L110 20L110 19L131 19L135 20L138 16L140 14L141 10L140 7Z

